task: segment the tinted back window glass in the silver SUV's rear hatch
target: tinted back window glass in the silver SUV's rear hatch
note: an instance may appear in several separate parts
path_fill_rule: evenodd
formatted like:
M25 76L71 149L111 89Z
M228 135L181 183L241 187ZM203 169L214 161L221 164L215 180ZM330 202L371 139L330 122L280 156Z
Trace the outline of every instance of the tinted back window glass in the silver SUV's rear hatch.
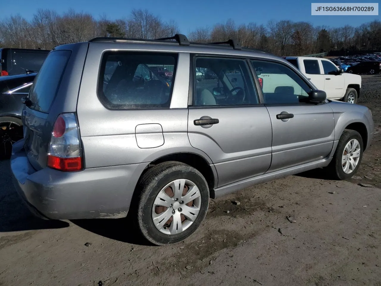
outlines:
M58 50L52 51L47 56L29 93L29 99L32 101L30 108L44 113L49 112L70 55L71 51Z

